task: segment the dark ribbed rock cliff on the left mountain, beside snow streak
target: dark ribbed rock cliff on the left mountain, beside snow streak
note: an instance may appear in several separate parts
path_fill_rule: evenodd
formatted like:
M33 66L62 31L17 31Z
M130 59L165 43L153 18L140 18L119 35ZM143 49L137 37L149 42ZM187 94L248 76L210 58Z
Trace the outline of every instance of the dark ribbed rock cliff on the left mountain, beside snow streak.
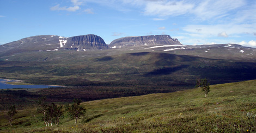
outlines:
M103 50L109 48L100 36L92 34L69 37L66 39L64 45L65 48L77 49L78 51Z

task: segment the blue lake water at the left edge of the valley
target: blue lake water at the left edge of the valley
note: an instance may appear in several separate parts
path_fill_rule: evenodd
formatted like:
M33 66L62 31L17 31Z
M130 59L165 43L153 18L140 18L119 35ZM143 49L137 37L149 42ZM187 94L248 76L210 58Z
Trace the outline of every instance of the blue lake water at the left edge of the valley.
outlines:
M51 85L9 85L2 83L2 81L7 81L5 79L0 79L0 89L2 88L49 88L49 87L61 87L61 86L51 86ZM16 80L11 80L16 81ZM9 81L10 82L10 81Z

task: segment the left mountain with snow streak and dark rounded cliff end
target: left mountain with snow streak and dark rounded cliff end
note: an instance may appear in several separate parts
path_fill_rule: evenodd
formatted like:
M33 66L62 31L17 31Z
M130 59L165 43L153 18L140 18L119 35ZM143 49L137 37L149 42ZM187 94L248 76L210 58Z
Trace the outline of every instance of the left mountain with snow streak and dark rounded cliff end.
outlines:
M77 51L108 49L105 41L97 35L62 37L57 35L31 36L0 46L1 55L33 51L58 51L75 49Z

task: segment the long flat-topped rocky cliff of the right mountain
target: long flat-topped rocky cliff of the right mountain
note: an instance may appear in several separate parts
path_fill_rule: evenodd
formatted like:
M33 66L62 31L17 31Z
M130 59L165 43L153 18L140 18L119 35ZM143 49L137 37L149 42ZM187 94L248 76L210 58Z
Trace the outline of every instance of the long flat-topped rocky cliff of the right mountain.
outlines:
M109 44L109 47L121 48L143 45L181 45L181 43L169 35L131 36L116 39Z

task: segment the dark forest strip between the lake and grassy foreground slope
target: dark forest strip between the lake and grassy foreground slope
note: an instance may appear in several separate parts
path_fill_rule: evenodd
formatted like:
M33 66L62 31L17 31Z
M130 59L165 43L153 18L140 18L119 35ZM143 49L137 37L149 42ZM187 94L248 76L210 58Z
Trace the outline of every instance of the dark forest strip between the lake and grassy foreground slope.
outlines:
M192 86L193 87L193 86ZM17 109L35 106L35 100L45 96L47 102L70 103L74 98L83 101L117 98L127 96L141 96L151 93L167 93L192 88L189 86L84 86L84 87L54 87L41 90L0 90L0 110L8 110L8 106L15 103Z

